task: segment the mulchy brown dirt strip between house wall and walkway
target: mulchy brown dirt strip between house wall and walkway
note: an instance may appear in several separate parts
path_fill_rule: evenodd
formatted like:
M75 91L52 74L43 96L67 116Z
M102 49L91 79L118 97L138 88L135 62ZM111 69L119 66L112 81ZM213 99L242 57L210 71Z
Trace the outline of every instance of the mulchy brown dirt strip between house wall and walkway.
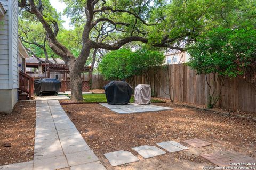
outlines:
M18 102L11 114L0 112L0 165L33 160L36 104Z

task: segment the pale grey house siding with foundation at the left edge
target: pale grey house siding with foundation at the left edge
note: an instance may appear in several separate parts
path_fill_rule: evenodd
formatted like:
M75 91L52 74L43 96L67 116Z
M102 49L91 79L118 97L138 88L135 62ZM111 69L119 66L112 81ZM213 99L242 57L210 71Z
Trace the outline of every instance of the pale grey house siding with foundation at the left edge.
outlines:
M6 14L0 17L0 111L12 112L18 89L18 1L0 0Z

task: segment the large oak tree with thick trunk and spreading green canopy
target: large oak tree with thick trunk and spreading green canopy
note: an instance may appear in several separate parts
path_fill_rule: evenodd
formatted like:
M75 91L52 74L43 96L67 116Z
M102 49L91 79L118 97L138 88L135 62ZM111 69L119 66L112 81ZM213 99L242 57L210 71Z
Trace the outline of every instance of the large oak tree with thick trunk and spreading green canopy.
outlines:
M50 48L69 66L72 101L83 100L81 70L92 50L95 53L95 49L117 50L135 41L183 50L180 41L195 41L202 31L225 21L229 13L223 8L226 4L218 0L62 0L67 4L65 12L72 24L82 27L81 50L75 57L65 43L60 43L57 19L45 12L47 2L20 0L19 7L41 22ZM102 23L107 23L108 27L106 37L99 40L93 32Z

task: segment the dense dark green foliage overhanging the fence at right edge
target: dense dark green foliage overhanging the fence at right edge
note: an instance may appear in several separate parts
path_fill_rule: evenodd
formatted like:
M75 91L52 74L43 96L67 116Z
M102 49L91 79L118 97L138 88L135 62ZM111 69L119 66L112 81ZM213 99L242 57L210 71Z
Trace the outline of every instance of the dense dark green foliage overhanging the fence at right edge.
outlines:
M252 28L215 28L190 45L187 63L198 74L218 73L255 83L256 31Z

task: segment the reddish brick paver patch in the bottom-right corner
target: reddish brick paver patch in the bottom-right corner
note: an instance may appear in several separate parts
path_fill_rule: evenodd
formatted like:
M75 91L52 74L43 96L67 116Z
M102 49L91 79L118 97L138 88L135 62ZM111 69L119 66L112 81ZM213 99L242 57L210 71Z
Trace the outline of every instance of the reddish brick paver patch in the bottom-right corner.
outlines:
M203 158L209 160L211 163L220 167L223 167L223 166L247 167L246 163L256 164L256 159L235 151L220 151L220 152L215 152L211 154L201 154L200 156L202 156ZM232 165L232 163L234 164ZM236 163L245 163L245 164L236 165ZM255 165L252 165L252 166L255 167Z

